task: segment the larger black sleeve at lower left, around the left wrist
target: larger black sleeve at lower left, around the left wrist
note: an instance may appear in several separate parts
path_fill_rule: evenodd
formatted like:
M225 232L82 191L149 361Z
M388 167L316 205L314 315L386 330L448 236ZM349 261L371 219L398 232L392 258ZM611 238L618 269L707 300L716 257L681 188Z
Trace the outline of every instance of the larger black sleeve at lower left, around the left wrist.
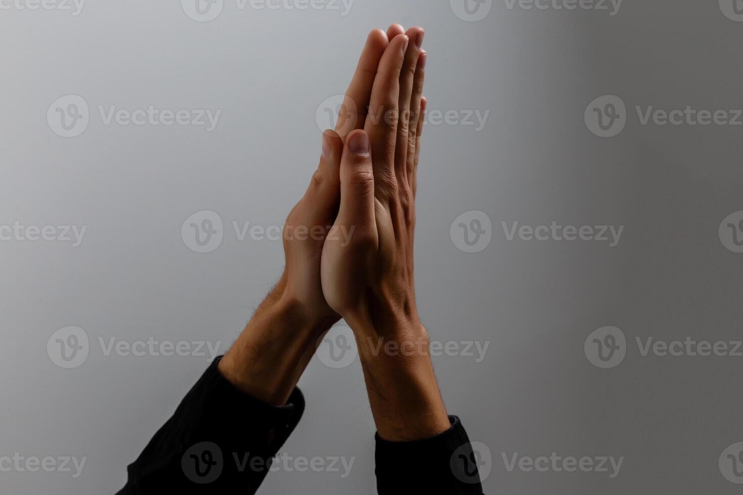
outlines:
M253 399L219 373L220 359L129 465L118 495L256 493L305 399L299 389L283 407Z

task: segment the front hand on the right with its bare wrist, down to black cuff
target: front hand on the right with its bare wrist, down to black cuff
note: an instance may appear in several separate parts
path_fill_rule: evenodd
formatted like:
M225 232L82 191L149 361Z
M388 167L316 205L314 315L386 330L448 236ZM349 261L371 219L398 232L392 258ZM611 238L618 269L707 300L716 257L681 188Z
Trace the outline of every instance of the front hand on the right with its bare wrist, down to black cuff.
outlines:
M380 60L364 130L348 134L340 163L334 229L354 235L345 245L325 240L320 265L328 306L359 344L377 432L391 441L424 439L450 427L415 304L416 175L426 107L422 41L423 30L414 27L392 39Z

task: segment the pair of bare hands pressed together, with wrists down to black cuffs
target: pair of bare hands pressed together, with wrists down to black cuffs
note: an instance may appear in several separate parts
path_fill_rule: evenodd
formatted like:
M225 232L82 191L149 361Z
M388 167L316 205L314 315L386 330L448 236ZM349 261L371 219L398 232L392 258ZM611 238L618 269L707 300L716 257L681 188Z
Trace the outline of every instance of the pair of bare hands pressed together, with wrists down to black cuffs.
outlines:
M345 95L345 119L322 135L317 171L288 216L282 278L219 363L240 390L283 405L318 339L344 318L356 336L377 431L390 441L450 427L415 304L423 38L420 27L405 32L398 24L369 34ZM286 235L297 226L321 227L325 235ZM386 353L390 341L415 352Z

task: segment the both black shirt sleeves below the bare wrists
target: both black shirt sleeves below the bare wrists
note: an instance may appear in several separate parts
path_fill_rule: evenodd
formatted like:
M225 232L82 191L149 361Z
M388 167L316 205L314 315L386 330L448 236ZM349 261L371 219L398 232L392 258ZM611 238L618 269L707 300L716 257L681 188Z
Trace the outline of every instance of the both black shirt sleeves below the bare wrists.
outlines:
M271 459L302 418L295 389L276 407L242 393L217 358L132 465L118 495L255 494ZM376 436L377 492L481 495L467 432L456 416L438 436L388 442Z

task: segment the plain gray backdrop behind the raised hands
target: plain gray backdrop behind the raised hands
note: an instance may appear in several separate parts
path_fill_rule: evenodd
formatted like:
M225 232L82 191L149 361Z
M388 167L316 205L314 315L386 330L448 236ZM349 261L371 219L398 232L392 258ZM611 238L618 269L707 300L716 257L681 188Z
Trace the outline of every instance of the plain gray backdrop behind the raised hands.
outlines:
M732 0L731 0L732 1ZM231 223L281 224L317 165L318 105L343 93L369 30L426 28L430 110L490 111L486 127L428 125L418 195L418 304L432 338L490 342L487 356L435 358L450 413L492 452L487 494L733 494L718 456L743 440L743 358L643 357L635 337L743 338L743 255L718 226L743 210L743 127L640 125L635 105L743 108L743 22L716 1L626 0L597 10L510 10L466 22L448 1L356 0L337 10L238 10L211 22L178 1L90 1L0 11L0 225L85 225L79 247L0 242L0 456L86 456L70 473L0 473L5 494L105 494L207 366L205 358L105 356L98 337L223 342L282 270L280 243L239 241ZM52 102L85 98L79 137L55 134ZM588 130L591 100L620 96L616 137ZM221 109L203 127L103 125L97 105ZM190 250L201 210L224 241ZM457 249L470 210L487 249ZM598 242L507 241L502 221L624 225ZM62 327L90 355L63 370ZM629 350L594 367L583 350L614 325ZM224 349L223 349L224 350ZM282 451L355 456L351 476L272 473L259 493L374 493L373 433L358 361L314 358L305 417ZM502 453L625 456L620 475L536 473Z

